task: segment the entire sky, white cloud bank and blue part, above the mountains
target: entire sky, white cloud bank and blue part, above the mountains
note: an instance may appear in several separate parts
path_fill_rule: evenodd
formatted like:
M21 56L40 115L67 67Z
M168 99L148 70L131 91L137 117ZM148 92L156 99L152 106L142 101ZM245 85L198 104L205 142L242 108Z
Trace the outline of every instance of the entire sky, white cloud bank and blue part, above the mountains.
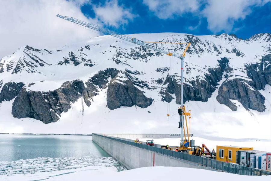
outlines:
M123 34L270 33L271 0L0 0L0 58L26 45L56 49L99 34L56 14Z

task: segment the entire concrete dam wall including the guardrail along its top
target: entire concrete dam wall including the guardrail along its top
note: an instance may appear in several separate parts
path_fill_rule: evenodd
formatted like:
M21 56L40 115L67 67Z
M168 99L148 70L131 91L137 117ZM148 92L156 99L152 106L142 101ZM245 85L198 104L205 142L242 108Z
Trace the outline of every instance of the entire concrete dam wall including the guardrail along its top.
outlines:
M139 136L130 134L130 137ZM148 136L149 134L142 134ZM155 134L153 138L166 137L171 135ZM127 169L139 167L187 167L212 171L228 172L239 175L271 175L267 170L245 167L205 157L194 156L177 151L162 149L161 145L149 146L135 143L127 139L127 134L121 138L106 134L92 134L92 140L104 149L109 155L120 162ZM156 147L157 146L157 147Z

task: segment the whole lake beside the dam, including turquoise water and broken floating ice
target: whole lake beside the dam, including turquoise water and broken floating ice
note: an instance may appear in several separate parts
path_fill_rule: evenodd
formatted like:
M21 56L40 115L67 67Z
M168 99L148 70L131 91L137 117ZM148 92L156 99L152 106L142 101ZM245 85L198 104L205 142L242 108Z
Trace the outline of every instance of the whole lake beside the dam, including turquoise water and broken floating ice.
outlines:
M0 134L0 177L89 166L126 170L95 144L92 136Z

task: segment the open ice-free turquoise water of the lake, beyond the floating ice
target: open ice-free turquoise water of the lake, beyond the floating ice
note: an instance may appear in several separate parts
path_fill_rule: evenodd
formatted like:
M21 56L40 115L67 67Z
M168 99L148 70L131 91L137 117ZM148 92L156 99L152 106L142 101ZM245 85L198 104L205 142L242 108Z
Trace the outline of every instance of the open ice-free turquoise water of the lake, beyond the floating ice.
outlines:
M0 161L89 156L110 157L92 136L0 135Z

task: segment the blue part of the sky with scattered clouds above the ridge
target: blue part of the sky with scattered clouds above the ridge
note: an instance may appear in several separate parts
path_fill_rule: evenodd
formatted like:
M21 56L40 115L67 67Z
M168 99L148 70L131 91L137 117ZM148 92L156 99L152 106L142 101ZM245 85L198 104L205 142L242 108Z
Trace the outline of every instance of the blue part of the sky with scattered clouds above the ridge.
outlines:
M151 3L161 5L152 5ZM118 25L104 21L104 26L119 33L160 33L176 32L190 33L194 35L207 34L235 34L237 37L246 39L256 33L271 32L271 2L270 1L155 1L155 0L93 0L81 6L82 13L89 18L103 21L103 15L97 13L97 9L104 8L110 11L114 3L121 7L119 10L128 11L130 17L122 17L127 20ZM164 4L163 4L164 3ZM213 5L210 5L213 3ZM228 4L225 7L224 4ZM192 4L191 7L187 4ZM242 5L243 4L243 5ZM184 6L187 11L176 6ZM187 7L188 6L188 7ZM194 6L194 7L193 7ZM221 8L221 11L215 9ZM167 12L170 12L168 14ZM213 12L212 12L213 11ZM237 11L237 13L235 13ZM209 14L208 14L209 12ZM121 12L116 12L121 13ZM232 15L234 14L234 15ZM217 16L217 18L212 18ZM224 16L220 18L221 16ZM226 18L226 19L225 19ZM222 19L222 20L221 20ZM210 25L212 24L212 25Z

